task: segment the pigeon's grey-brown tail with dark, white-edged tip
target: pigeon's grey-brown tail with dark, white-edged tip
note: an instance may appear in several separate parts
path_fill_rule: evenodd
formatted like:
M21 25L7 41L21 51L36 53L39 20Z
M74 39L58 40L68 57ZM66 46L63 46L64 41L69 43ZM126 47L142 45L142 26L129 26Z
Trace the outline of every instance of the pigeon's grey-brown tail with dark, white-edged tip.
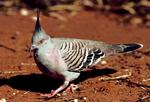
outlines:
M142 48L143 45L139 43L130 43L130 44L114 44L111 45L110 50L111 52L108 51L108 55L113 54L113 53L124 53L124 52L130 52L134 51L136 49Z

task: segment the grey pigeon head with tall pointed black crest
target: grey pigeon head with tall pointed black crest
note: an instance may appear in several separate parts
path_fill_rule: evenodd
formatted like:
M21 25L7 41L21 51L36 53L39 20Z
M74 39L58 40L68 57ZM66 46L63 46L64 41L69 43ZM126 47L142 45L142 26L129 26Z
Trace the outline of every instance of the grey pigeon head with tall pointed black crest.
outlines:
M30 51L37 50L39 47L45 45L50 40L50 36L42 29L39 21L39 11L37 12L37 21L35 30L32 36L32 45Z

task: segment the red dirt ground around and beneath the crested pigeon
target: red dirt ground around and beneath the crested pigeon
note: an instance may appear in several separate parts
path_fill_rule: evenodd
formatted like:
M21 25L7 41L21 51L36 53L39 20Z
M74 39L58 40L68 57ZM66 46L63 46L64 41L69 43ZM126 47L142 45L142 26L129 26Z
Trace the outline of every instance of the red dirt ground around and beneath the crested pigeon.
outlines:
M41 74L29 57L28 46L35 21L30 16L0 15L0 71L21 71L13 74L0 73L0 99L7 102L150 102L150 28L122 25L100 12L82 11L74 17L60 21L41 17L42 25L49 35L92 39L107 43L144 44L144 48L131 54L106 58L106 65L98 64L91 72L79 78L79 90L60 97L45 100L40 93L48 93L60 85ZM124 80L100 81L102 77L126 74ZM143 81L145 79L145 81Z

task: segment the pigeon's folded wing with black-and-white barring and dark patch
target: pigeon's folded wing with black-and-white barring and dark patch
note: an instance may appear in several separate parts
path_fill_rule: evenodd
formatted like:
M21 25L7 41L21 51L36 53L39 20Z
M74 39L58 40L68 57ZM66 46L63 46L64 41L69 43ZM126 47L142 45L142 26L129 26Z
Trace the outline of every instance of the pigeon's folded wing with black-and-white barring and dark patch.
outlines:
M80 72L88 66L98 63L105 56L104 52L89 41L63 40L59 44L61 57L68 71Z

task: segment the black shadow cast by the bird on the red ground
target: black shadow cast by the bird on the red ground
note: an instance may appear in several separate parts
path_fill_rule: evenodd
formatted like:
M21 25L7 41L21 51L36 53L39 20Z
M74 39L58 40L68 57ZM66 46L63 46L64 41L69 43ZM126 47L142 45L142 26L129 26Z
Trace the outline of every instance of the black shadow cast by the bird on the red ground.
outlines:
M88 72L82 72L75 82L81 82L91 77L108 75L115 73L116 70L94 69ZM8 85L14 89L26 90L31 92L48 93L52 89L58 88L63 80L53 79L43 74L17 75L10 78L0 78L0 86Z

